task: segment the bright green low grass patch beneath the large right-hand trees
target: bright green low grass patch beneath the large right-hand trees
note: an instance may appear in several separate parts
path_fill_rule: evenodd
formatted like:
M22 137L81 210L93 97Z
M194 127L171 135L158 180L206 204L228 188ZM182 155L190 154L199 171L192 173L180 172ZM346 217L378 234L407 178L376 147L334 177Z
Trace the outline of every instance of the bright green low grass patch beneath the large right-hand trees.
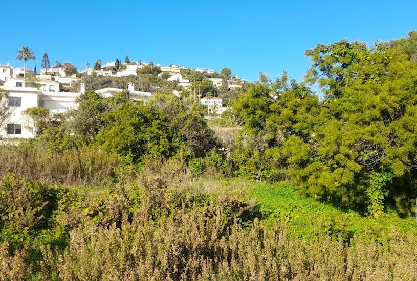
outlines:
M400 218L388 212L385 217L364 217L354 210L342 210L331 204L300 196L290 183L249 184L250 195L261 204L265 223L282 221L288 225L290 236L305 240L331 233L349 242L354 236L364 239L390 239L408 231L417 233L414 218Z

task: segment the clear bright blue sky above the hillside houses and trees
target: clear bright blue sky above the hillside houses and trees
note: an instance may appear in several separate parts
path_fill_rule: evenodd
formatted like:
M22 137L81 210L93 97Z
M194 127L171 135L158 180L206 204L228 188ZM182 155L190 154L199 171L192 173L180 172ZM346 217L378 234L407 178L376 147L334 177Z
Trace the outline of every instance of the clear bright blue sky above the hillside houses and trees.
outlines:
M301 79L306 49L340 39L373 44L417 29L417 1L5 1L0 64L22 45L51 64L153 61L188 67L229 67L250 81L287 69Z

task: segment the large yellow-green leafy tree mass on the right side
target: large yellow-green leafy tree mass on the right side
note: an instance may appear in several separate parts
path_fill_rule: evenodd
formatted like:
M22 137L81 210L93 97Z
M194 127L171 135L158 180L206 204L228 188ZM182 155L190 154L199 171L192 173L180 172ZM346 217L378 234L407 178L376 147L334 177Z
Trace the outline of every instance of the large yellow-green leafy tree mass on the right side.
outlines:
M313 62L306 79L319 84L325 99L287 73L275 81L261 75L234 105L244 122L236 167L258 179L287 167L313 198L376 217L391 203L411 214L417 65L401 48L346 40L306 54Z

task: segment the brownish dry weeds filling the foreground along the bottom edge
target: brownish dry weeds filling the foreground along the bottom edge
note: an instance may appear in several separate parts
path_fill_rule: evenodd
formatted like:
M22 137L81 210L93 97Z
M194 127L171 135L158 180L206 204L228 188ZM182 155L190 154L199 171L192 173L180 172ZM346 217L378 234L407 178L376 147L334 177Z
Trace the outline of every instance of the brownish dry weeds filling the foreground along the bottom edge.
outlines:
M224 228L222 214L209 219L182 210L156 228L135 218L121 229L92 227L71 232L64 253L50 248L38 277L62 280L414 280L415 237L383 244L319 237L289 240L284 228L255 221Z

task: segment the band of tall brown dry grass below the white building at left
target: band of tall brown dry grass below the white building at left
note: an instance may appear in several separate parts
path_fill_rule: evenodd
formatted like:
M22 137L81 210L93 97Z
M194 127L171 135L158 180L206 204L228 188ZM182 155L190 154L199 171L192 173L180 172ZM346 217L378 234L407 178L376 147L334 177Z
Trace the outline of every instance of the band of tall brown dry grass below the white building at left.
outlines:
M120 160L97 148L55 153L29 145L0 148L0 176L13 173L46 183L96 185L113 178Z

